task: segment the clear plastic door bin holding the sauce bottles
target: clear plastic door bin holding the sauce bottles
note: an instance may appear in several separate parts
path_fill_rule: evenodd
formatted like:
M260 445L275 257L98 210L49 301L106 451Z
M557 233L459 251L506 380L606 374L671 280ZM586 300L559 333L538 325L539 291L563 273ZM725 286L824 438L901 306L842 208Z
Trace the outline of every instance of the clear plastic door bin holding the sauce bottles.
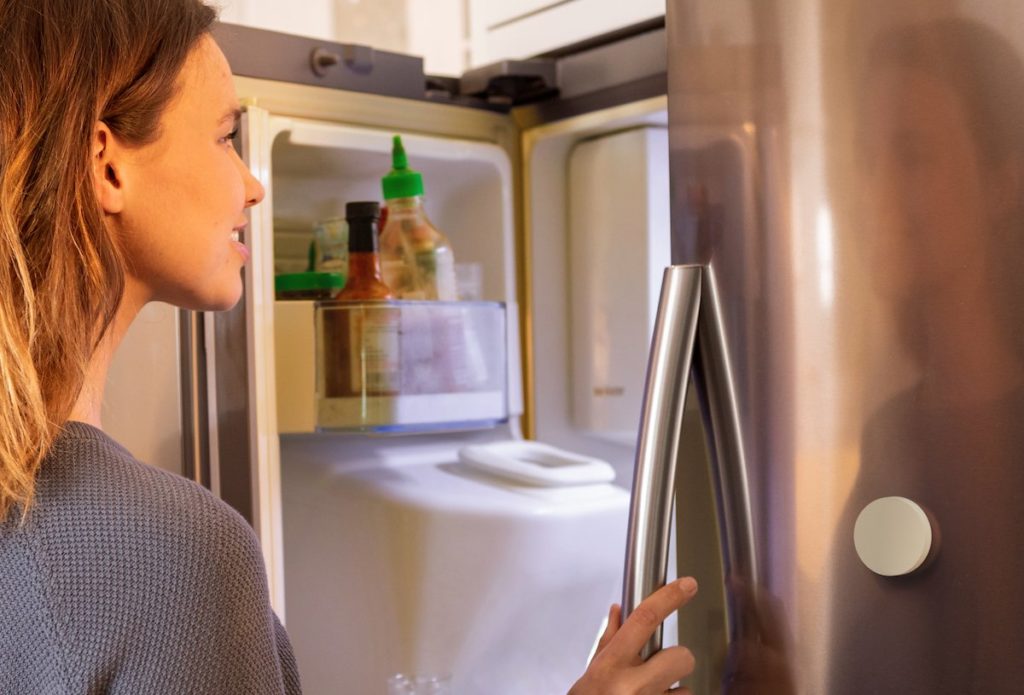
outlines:
M508 419L497 302L318 302L318 429L473 429Z

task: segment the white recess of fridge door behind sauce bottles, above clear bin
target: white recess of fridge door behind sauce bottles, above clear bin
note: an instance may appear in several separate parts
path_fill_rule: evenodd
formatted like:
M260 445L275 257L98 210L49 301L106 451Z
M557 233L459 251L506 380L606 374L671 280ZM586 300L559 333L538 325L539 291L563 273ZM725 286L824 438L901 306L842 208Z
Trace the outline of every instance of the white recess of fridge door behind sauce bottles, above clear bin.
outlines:
M274 267L304 269L316 220L344 217L350 201L379 201L391 168L390 131L273 119ZM427 215L452 241L456 260L479 263L483 299L515 302L512 171L496 144L401 134L423 174Z

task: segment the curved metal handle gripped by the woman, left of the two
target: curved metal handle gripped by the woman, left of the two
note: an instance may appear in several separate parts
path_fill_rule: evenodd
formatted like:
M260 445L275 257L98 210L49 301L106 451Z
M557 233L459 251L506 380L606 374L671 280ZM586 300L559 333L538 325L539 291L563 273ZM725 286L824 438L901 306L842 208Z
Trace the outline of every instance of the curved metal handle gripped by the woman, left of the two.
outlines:
M666 268L654 321L633 473L623 618L663 585L669 556L683 409L700 307L701 266ZM641 657L662 648L658 627Z

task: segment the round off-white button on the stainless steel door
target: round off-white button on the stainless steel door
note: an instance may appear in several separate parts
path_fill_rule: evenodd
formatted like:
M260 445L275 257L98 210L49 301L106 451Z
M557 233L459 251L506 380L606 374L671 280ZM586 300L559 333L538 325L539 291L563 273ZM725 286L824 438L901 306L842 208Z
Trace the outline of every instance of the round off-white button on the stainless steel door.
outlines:
M861 510L853 527L853 545L860 561L876 574L909 574L932 550L932 524L916 503L881 497Z

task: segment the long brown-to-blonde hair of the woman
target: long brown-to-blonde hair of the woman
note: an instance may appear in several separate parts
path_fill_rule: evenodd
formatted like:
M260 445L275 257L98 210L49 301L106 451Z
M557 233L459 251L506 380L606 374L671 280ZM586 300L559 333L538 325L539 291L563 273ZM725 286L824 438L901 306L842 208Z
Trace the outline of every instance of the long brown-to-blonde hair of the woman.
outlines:
M215 16L200 0L0 0L0 520L31 506L124 290L90 173L96 122L156 139Z

